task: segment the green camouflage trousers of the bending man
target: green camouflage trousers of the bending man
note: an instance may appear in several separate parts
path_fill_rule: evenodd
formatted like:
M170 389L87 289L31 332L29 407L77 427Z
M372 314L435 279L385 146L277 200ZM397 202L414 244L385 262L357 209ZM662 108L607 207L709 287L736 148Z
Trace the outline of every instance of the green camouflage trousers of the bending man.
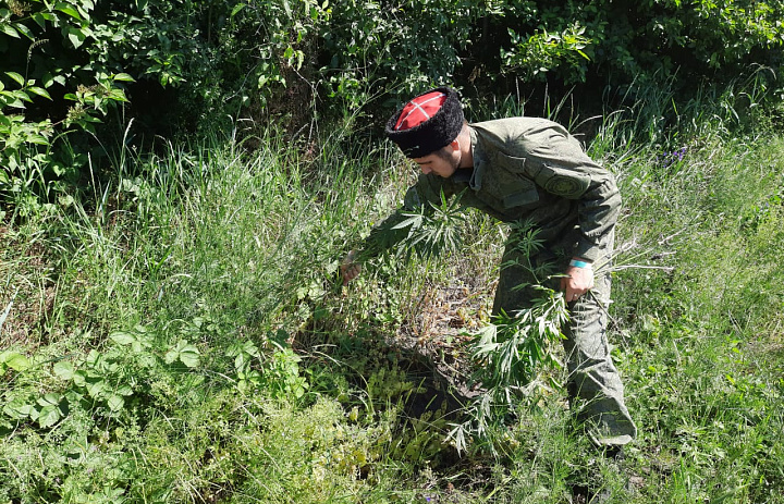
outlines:
M603 244L602 255L595 262L595 286L568 304L569 321L563 329L568 370L567 391L571 409L598 445L623 445L637 434L637 428L624 402L624 388L610 356L607 336L610 305L612 233ZM560 244L546 246L535 254L520 250L511 239L504 251L493 314L509 315L530 306L531 290L514 288L538 283L560 288L560 279L544 280L548 271L564 272L571 257L568 237ZM523 266L524 265L524 266ZM535 274L535 272L537 274Z

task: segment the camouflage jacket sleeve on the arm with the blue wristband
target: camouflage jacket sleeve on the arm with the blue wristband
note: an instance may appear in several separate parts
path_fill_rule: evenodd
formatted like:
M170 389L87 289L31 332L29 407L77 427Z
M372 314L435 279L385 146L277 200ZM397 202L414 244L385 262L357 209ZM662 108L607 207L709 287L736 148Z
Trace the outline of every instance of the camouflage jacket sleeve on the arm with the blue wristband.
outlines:
M615 177L560 126L532 132L525 148L530 161L526 171L534 182L554 196L577 201L580 239L573 254L595 261L621 209Z

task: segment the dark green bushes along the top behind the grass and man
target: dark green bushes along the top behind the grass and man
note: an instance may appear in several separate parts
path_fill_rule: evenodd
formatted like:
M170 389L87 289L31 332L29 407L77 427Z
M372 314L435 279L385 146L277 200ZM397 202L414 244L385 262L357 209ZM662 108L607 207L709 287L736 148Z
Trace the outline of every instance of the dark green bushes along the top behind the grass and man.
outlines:
M126 143L247 120L313 140L319 124L378 125L434 84L479 101L576 85L589 106L660 77L694 90L777 69L782 17L747 0L5 0L0 198L27 211L78 185L127 118ZM113 112L121 127L97 127Z

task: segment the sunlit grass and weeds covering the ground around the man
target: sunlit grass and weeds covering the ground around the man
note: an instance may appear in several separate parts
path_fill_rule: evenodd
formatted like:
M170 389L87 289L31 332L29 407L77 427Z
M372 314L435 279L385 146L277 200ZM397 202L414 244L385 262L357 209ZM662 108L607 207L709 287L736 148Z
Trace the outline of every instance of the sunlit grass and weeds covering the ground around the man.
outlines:
M445 311L439 290L491 295L503 226L468 212L468 245L342 286L414 170L270 134L124 150L111 184L1 229L0 502L563 503L586 480L613 502L784 502L784 138L711 100L664 135L608 114L589 145L625 201L610 339L634 494L556 388L519 403L495 456L458 457L445 396L395 344Z

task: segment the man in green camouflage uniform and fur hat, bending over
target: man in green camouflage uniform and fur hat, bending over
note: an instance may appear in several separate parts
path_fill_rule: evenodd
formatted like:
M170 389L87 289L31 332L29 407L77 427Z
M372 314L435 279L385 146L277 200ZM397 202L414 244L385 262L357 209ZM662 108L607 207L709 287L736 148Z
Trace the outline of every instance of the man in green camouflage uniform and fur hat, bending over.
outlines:
M554 287L564 292L569 310L563 329L572 407L598 445L614 448L632 441L636 427L607 340L608 269L621 207L613 175L554 122L465 123L450 88L414 98L390 119L387 135L422 172L406 193L405 209L438 204L441 192L446 197L462 193L461 202L469 207L539 230L543 247L532 256L523 257L514 234L506 245L493 312L513 315L530 305L530 290L514 287L541 283L532 270L549 266L564 272ZM390 218L397 219L400 211ZM359 266L350 260L342 270L347 282Z

